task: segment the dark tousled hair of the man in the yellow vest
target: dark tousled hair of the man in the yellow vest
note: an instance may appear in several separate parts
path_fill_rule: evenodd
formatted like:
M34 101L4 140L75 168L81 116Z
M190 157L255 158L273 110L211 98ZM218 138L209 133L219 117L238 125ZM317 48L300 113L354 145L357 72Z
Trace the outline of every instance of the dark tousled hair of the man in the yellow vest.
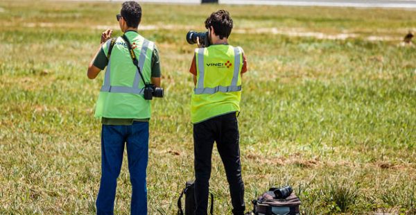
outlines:
M211 15L205 20L205 28L212 26L215 34L220 36L223 40L224 37L229 37L232 29L232 19L229 16L227 10L218 10L217 12L211 13Z

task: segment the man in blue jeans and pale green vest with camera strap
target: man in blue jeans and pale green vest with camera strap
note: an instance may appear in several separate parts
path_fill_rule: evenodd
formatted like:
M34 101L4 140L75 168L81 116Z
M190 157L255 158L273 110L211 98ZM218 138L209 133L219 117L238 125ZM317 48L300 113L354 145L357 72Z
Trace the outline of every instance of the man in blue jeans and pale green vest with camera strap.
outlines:
M146 168L150 101L144 98L145 83L160 86L159 54L155 44L137 33L141 7L135 1L122 4L116 15L123 37L109 40L112 30L101 35L101 45L87 76L96 78L107 67L98 96L95 117L101 118L101 184L97 214L114 214L117 178L127 148L132 183L131 214L147 214ZM128 44L137 57L133 64ZM139 69L137 69L139 67ZM140 75L141 72L141 75Z

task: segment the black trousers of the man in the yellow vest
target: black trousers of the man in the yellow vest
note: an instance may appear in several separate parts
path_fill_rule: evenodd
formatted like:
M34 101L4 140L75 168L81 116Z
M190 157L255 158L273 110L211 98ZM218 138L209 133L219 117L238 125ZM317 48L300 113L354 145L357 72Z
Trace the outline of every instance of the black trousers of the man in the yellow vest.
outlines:
M241 178L239 126L236 113L214 117L193 125L196 215L206 215L214 141L225 167L233 214L244 214L244 183Z

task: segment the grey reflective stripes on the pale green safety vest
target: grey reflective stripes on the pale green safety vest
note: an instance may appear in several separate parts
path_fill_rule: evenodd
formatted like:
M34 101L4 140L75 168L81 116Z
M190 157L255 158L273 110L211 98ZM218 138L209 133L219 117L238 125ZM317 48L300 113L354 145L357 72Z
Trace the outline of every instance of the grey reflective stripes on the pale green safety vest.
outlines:
M109 41L110 40L107 41L108 47L110 47L110 43L111 43L111 41L110 43ZM154 46L154 43L148 40L144 40L143 46L141 46L140 56L139 56L139 68L140 68L141 74L143 74L143 66L146 60L147 49L153 49L153 46ZM133 81L132 87L125 87L125 86L112 86L110 84L110 72L111 72L110 68L111 68L111 61L110 59L108 59L108 65L107 65L107 69L105 70L105 76L104 76L104 84L103 84L103 87L101 87L101 92L141 94L141 95L144 94L144 89L139 89L139 83L143 81L141 80L139 70L136 70L135 80Z

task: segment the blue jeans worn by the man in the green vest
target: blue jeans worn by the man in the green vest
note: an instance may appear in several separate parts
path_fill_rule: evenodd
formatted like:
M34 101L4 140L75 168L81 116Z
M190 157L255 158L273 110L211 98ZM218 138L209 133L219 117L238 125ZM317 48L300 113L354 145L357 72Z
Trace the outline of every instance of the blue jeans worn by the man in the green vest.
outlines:
M146 168L149 123L134 121L131 126L103 125L101 130L101 184L96 200L97 214L114 214L117 178L127 148L132 183L131 214L147 214Z

